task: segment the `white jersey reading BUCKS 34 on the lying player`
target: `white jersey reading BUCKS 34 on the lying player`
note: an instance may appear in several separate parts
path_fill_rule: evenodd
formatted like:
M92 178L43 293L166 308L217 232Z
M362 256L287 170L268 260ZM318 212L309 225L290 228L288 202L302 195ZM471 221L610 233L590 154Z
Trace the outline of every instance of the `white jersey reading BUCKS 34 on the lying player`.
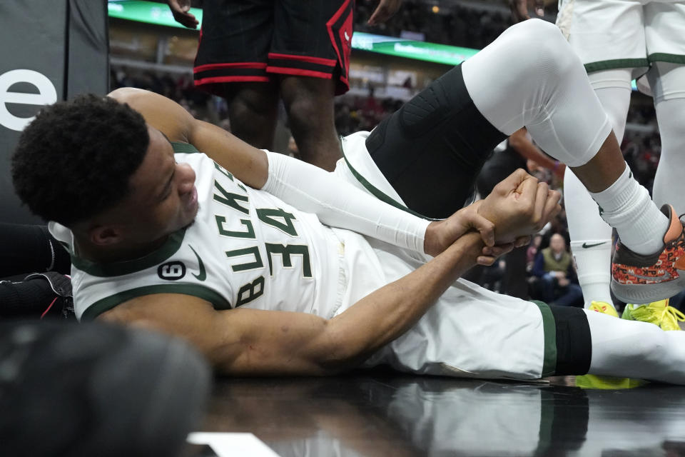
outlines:
M176 161L196 171L200 209L190 226L133 261L98 264L73 254L71 232L51 223L72 252L76 314L89 319L136 296L183 293L217 309L248 306L328 314L345 288L342 244L313 214L251 189L188 144ZM132 217L134 217L132 215ZM344 276L344 274L342 275ZM340 303L338 303L338 306Z

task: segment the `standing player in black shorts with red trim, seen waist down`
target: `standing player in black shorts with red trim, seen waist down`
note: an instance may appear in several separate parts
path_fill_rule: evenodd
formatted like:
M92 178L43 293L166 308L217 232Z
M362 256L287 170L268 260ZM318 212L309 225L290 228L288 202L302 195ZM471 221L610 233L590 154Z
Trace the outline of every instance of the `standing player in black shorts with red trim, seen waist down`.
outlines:
M401 0L380 0L370 24ZM191 0L167 0L174 19L195 29ZM332 171L342 156L333 97L349 89L354 1L205 0L196 86L228 102L235 136L273 150L283 100L300 157Z

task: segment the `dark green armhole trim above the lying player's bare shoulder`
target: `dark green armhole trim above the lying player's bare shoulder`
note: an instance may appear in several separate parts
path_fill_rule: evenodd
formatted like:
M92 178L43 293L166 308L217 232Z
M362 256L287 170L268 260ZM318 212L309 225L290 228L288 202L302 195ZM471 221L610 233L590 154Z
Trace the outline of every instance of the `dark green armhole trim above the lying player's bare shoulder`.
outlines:
M145 295L153 295L154 293L182 293L183 295L202 298L203 300L212 303L212 306L216 310L230 309L230 303L210 288L194 284L159 284L156 286L132 288L130 291L123 291L116 293L113 296L103 298L102 300L98 300L91 306L88 306L86 311L83 312L81 321L92 321L97 316L120 305L124 301Z

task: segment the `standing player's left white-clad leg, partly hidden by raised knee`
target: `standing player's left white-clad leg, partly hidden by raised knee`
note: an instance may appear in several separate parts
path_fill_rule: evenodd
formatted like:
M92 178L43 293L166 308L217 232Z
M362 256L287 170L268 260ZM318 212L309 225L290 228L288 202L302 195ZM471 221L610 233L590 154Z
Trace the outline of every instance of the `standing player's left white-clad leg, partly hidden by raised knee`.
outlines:
M620 144L630 104L631 69L596 71L588 76ZM596 306L607 306L610 312L612 228L599 216L594 200L570 170L564 175L564 206L585 308L596 301Z

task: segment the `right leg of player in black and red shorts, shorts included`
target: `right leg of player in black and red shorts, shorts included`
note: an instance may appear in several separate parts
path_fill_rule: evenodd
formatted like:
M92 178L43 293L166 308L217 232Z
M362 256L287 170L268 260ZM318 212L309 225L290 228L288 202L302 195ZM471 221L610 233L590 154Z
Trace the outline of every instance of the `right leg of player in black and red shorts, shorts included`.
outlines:
M344 0L275 2L267 71L280 76L300 156L328 171L342 157L333 97L349 89L353 7Z

